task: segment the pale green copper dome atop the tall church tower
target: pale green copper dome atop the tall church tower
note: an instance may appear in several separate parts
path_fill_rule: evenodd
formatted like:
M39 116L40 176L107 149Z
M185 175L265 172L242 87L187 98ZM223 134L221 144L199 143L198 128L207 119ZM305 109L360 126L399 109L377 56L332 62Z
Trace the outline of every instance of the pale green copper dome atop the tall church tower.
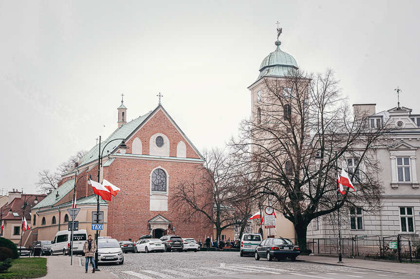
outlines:
M285 77L289 75L289 70L299 68L292 55L281 51L280 41L275 41L275 45L277 48L261 62L258 79L266 76Z

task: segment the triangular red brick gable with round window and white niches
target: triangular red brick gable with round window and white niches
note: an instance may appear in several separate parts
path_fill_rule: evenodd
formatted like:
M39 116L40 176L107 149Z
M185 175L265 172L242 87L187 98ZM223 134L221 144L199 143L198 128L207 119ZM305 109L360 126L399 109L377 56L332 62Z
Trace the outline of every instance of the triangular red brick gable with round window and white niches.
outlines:
M127 153L202 159L161 105L133 131L126 143L129 147Z

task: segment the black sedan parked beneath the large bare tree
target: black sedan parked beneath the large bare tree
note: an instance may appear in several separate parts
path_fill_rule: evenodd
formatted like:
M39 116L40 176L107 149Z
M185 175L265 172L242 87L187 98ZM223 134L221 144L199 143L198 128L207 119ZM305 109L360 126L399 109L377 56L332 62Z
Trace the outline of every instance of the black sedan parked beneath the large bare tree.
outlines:
M294 262L299 254L299 246L294 246L290 239L267 238L256 247L255 259L258 261L260 257L263 257L268 261L273 261L274 258L277 260L289 258Z

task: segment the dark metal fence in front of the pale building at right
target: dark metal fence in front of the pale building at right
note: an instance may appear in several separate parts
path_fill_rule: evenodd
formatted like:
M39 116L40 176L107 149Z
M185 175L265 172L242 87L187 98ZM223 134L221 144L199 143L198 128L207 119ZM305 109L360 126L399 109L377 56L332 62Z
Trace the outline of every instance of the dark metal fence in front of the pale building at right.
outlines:
M296 243L296 240L292 240ZM307 239L307 249L314 254L338 255L338 238ZM372 257L398 261L420 261L420 237L393 235L354 236L341 239L344 257Z

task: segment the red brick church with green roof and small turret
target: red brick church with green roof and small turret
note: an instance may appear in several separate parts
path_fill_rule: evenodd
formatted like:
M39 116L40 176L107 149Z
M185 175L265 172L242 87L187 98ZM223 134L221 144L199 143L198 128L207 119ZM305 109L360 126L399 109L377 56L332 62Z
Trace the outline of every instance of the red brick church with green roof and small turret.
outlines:
M106 214L101 235L136 241L140 236L149 233L157 238L172 234L171 229L174 228L175 234L181 237L203 241L205 236L213 233L213 226L202 214L186 220L186 215L174 199L175 188L179 183L191 181L204 173L204 161L200 152L160 104L146 115L129 122L126 119L127 108L122 101L118 108L118 128L101 142L101 150L96 145L86 153L74 170L63 175L57 189L57 193L63 196L62 203L72 200L73 189L69 191L71 187L63 187L60 192L61 185L74 183L76 171L77 178L91 174L92 180L97 181L98 153L103 151L100 181L106 179L121 191L111 201L107 201L107 204L101 201L101 210ZM127 144L125 152L118 148L122 142L120 139L124 139ZM107 143L110 144L104 148ZM85 217L86 226L83 228L92 233L94 231L90 230L89 211L95 210L96 205L92 202L95 196L91 185L88 185L86 179L80 179L76 190L77 200L90 201L85 205L87 211L82 212L82 209L78 218ZM204 200L203 202L208 203ZM59 204L41 204L33 213L37 210L49 210L51 213L50 207L59 207ZM38 239L41 238L52 239L54 235L38 235Z

